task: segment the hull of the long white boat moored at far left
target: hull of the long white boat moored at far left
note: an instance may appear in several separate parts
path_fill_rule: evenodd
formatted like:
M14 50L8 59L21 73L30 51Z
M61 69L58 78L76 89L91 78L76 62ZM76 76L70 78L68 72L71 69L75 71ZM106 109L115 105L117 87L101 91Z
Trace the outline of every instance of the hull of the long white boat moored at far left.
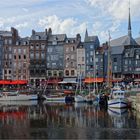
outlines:
M34 95L12 95L12 96L1 96L0 101L27 101L27 100L37 100L38 96L36 94Z

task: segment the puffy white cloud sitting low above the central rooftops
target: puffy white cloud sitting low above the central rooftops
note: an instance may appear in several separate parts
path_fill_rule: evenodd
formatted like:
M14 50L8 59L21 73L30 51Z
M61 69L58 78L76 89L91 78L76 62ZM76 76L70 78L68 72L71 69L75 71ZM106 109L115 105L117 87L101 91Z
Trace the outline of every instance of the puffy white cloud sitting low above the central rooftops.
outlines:
M47 16L40 19L38 24L43 28L52 28L54 33L66 33L69 36L75 36L77 33L83 34L86 29L86 22L80 23L74 18L61 19L56 15Z

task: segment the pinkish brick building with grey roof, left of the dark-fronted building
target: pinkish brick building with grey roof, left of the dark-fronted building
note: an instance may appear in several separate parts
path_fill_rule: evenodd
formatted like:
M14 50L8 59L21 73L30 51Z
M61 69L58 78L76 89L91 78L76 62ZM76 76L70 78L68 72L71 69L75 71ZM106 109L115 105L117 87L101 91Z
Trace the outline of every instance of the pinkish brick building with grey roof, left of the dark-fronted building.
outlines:
M18 39L12 54L12 80L29 81L29 38Z

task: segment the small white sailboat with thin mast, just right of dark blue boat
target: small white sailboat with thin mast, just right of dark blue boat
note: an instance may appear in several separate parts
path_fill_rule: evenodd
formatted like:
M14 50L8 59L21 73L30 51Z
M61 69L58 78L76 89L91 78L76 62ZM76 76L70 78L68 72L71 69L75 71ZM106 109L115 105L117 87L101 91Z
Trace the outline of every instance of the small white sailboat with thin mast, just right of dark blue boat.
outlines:
M79 91L79 94L77 95L76 92L77 92L79 83L80 83L80 91ZM78 78L76 92L75 92L75 96L74 96L74 101L75 102L85 102L85 97L81 94L82 93L82 90L81 90L81 70L80 70L80 75Z

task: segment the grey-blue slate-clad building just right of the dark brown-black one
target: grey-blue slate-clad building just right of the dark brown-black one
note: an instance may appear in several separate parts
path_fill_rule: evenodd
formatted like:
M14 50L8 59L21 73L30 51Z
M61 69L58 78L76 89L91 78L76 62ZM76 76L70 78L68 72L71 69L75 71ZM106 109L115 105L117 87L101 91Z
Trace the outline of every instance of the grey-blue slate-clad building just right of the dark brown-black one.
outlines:
M46 50L47 79L63 78L65 40L66 34L52 34L49 28Z

